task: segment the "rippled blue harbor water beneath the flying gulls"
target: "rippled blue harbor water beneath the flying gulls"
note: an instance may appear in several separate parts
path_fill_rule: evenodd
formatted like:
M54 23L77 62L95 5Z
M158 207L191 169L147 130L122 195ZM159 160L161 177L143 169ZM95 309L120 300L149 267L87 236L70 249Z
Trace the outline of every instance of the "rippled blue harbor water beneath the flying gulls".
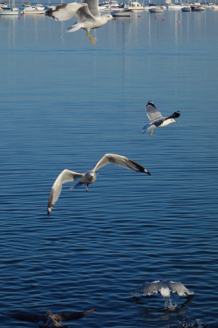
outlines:
M73 19L19 17L0 18L0 312L98 305L63 324L217 327L218 12L134 12L92 30L96 46L65 33ZM164 116L181 111L151 138L149 100ZM58 174L106 153L152 175L107 165L89 193L64 185L48 218ZM129 294L163 278L193 297L173 294L172 311L160 294Z

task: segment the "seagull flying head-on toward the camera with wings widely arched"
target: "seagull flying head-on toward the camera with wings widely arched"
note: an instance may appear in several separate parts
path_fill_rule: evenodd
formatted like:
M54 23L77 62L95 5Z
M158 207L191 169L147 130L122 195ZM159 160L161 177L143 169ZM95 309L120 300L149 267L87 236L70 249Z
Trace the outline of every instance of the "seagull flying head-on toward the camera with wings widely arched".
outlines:
M84 184L86 186L86 191L89 191L87 187L91 183L95 182L96 180L95 171L99 170L102 166L105 166L109 163L121 166L125 169L134 170L137 172L143 172L151 175L150 172L146 170L143 166L139 165L138 163L132 161L127 157L116 155L116 154L105 154L100 159L100 161L98 161L98 163L86 173L76 173L66 169L58 175L57 179L55 180L52 186L51 194L49 198L49 204L48 204L48 216L50 215L50 212L55 202L58 200L58 197L61 193L62 185L64 183L74 181L80 178L80 181L70 189L80 187Z

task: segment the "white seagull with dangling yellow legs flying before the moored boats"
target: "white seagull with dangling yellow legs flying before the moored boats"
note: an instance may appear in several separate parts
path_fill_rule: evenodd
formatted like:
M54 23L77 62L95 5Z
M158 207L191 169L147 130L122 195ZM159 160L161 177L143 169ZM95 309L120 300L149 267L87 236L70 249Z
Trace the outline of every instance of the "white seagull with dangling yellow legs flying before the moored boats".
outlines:
M111 19L116 20L109 13L104 15L100 13L98 0L84 0L83 3L73 2L60 5L46 11L45 15L59 21L68 20L75 15L77 22L71 25L66 32L75 32L79 29L84 29L87 31L86 35L93 45L95 45L94 39L89 31L105 25Z

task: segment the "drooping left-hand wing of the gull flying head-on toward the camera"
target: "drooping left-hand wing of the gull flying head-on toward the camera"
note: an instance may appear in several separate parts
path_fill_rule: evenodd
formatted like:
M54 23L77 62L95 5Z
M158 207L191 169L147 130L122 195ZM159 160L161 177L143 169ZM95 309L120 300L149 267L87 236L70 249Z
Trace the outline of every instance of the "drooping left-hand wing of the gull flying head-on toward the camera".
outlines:
M57 179L54 181L54 184L51 189L51 194L49 197L49 204L48 204L48 215L50 215L51 209L58 200L60 196L62 185L66 182L74 181L81 176L80 173L76 173L69 170L62 171Z

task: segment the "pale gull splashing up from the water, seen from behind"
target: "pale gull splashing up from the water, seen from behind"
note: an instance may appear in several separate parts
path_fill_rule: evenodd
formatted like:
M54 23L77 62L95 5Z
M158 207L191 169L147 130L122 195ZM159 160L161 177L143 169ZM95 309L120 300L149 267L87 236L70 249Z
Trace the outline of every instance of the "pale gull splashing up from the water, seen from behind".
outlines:
M177 293L179 296L186 296L194 294L193 291L190 291L179 281L167 281L166 279L155 280L152 282L144 282L139 288L130 291L129 293L133 295L143 293L143 296L161 293L162 297L170 297L170 292Z

